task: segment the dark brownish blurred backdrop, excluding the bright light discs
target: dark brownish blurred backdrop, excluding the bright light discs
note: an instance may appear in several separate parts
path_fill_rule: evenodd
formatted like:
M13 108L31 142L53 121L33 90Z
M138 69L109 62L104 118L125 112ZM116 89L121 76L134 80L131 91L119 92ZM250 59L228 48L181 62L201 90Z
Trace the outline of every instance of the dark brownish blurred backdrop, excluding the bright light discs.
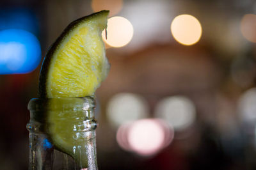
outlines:
M125 47L106 50L111 70L97 90L99 169L256 169L256 15L246 21L249 36L241 33L244 15L256 13L255 1L105 2L111 4L108 10L118 12L113 15L131 21L134 36ZM32 72L0 75L0 169L28 169L27 105L37 97L42 59L68 23L93 13L91 4L0 2L0 29L30 31L42 50L41 63ZM31 26L19 15L13 22L10 15L15 12L29 13ZM172 20L184 13L202 26L202 37L190 46L175 41L170 31ZM143 98L148 109L140 120L156 118L163 98L189 98L195 120L181 130L174 128L172 143L150 155L124 150L116 141L118 126L106 114L109 101L119 93Z

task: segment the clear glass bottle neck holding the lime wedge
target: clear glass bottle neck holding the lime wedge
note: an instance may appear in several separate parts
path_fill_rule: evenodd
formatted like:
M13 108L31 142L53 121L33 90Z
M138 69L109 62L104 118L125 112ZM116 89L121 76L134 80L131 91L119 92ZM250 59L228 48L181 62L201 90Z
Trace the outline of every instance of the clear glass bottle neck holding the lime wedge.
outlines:
M95 100L29 101L29 169L97 169Z

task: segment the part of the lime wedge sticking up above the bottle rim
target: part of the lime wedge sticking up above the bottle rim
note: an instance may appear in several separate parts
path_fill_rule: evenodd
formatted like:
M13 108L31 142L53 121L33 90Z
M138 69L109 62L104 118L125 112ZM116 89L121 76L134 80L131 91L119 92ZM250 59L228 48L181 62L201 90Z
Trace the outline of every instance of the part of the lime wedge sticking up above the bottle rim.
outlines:
M41 98L93 96L109 70L102 31L109 11L71 22L47 52L39 79Z

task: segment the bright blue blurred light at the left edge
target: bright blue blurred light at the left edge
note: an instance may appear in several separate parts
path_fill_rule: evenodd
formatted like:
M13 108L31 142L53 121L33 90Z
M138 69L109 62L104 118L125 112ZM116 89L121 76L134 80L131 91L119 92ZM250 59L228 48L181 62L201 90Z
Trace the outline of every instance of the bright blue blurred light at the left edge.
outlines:
M22 29L0 31L0 74L31 72L40 59L40 43L35 35Z

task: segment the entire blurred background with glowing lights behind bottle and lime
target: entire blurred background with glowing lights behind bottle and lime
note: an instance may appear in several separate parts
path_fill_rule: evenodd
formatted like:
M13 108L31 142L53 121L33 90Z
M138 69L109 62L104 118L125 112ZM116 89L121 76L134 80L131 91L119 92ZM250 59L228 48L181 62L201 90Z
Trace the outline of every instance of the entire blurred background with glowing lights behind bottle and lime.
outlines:
M0 169L28 169L42 60L72 20L99 10L111 12L99 169L256 169L253 0L1 0Z

